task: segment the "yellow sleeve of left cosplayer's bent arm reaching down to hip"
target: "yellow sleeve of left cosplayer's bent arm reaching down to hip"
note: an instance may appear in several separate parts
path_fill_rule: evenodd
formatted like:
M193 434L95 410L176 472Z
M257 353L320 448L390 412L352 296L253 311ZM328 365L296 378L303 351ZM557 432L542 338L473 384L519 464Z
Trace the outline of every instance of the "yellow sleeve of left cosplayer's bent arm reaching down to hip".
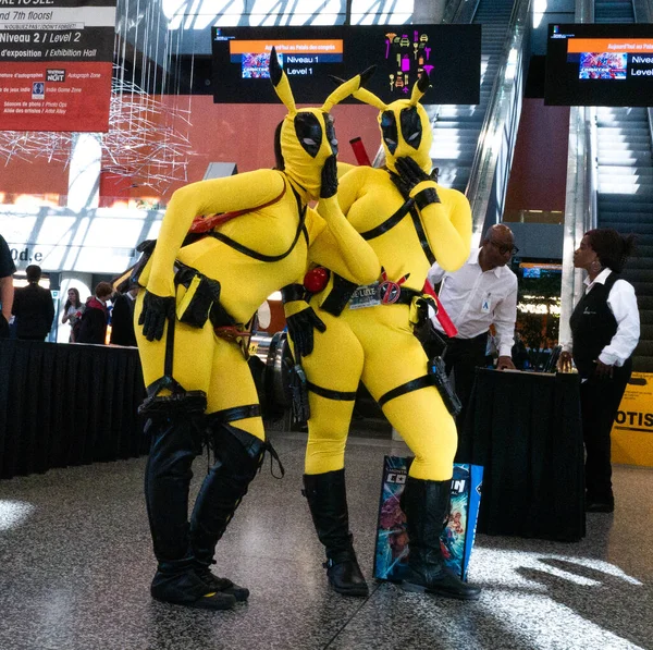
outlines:
M284 177L279 172L258 170L200 181L177 189L163 217L152 255L148 291L159 296L174 295L174 260L196 217L256 208L278 197L284 185Z

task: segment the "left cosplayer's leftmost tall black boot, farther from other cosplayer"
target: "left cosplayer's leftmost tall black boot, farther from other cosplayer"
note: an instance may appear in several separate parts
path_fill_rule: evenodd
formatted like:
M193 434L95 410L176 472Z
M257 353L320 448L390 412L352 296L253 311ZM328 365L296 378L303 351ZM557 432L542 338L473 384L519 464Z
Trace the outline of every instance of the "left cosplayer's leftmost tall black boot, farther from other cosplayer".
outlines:
M231 594L215 592L196 575L188 539L188 489L199 436L190 416L149 420L152 444L145 471L145 496L157 574L157 600L209 610L227 610Z

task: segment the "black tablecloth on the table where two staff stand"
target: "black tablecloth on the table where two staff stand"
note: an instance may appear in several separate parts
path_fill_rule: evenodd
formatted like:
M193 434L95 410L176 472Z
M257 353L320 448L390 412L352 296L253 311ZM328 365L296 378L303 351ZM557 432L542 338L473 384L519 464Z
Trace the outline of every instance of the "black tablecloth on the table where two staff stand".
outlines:
M477 371L457 461L484 466L479 532L584 536L579 387L578 375Z

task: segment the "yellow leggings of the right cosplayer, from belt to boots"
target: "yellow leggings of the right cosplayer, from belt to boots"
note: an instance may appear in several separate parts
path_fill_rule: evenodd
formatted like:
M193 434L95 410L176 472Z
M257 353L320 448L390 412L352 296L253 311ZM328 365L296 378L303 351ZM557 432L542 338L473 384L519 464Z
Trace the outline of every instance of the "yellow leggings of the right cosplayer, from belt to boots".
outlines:
M345 309L340 317L316 311L326 331L316 332L315 349L303 359L310 383L355 393L362 379L372 397L379 400L427 373L427 355L412 334L407 305ZM309 401L306 474L342 469L354 401L331 400L313 391ZM434 387L390 400L383 413L415 454L410 476L426 480L452 477L456 426Z

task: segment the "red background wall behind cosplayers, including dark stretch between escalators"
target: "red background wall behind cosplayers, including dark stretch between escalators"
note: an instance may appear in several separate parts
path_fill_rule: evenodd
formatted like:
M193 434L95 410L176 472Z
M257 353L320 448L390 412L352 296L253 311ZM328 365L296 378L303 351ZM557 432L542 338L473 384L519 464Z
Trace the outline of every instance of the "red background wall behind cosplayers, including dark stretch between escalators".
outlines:
M188 97L169 98L171 106L187 107ZM377 110L369 106L344 105L333 109L340 140L340 160L356 164L349 140L361 137L370 159L380 143ZM187 182L202 179L209 162L236 162L239 172L274 164L274 128L285 115L281 105L214 105L209 96L190 98ZM564 210L567 169L569 109L546 107L541 99L525 99L515 148L506 210ZM184 134L185 135L185 134ZM137 181L137 180L135 180ZM163 192L147 186L130 187L125 180L104 176L102 196L161 196L167 201L186 181ZM13 158L0 167L0 193L67 193L67 169L46 160Z

